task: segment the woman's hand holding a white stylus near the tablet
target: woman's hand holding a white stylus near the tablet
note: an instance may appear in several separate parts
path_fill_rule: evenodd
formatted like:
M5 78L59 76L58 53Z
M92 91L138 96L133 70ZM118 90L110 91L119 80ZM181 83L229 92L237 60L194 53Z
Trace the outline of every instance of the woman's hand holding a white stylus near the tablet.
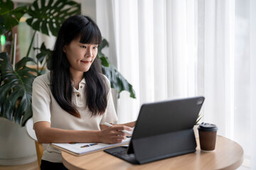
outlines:
M132 128L129 128L125 125L113 125L108 128L104 128L100 133L100 141L102 143L114 144L120 143L122 140L126 139L126 135L122 130L132 131Z

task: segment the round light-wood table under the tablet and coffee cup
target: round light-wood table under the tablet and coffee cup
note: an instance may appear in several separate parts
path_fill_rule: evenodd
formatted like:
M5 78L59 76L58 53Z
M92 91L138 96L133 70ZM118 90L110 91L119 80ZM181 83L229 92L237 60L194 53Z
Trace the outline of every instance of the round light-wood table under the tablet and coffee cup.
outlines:
M171 157L148 164L134 165L103 151L76 157L62 152L63 164L71 170L80 169L237 169L243 162L243 150L238 143L217 136L215 151L202 152L198 138L196 152Z

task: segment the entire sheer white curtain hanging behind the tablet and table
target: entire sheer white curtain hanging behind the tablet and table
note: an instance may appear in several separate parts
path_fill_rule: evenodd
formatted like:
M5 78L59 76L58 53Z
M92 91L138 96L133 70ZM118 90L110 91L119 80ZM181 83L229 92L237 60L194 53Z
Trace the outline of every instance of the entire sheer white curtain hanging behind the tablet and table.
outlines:
M137 93L132 99L122 92L119 121L136 120L142 103L203 95L203 120L242 145L250 166L256 156L255 4L97 0L97 23L111 40L107 56Z

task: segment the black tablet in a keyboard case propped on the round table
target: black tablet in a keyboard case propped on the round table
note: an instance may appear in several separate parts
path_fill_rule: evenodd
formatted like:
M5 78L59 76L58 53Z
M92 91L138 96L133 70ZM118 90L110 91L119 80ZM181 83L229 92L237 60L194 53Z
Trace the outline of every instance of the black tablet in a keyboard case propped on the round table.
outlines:
M143 104L129 147L114 147L105 152L132 164L195 152L193 125L203 101L203 96L197 96Z

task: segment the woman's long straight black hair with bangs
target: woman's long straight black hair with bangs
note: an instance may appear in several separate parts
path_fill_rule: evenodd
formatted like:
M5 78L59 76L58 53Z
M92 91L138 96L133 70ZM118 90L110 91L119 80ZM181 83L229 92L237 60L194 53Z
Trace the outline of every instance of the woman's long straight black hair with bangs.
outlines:
M80 38L83 44L102 42L102 35L97 24L87 16L71 16L60 27L50 62L51 91L61 108L80 118L80 113L72 104L73 86L71 84L70 64L63 47L72 40ZM102 115L107 108L107 81L97 67L97 60L92 62L90 69L84 72L86 81L86 103L92 115Z

